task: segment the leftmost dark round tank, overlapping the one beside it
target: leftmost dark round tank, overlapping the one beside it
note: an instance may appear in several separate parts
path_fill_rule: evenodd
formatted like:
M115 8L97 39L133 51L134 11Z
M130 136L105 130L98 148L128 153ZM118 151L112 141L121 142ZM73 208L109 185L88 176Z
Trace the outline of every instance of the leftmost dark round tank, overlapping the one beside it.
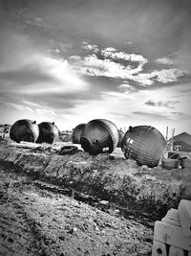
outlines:
M38 135L39 128L35 121L21 119L11 126L10 138L17 143L20 141L35 142Z

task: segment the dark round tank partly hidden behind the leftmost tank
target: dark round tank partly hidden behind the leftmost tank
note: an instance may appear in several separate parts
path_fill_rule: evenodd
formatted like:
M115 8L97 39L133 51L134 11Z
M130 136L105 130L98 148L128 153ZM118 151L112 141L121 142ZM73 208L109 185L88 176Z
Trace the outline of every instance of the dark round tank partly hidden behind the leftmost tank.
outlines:
M39 136L37 139L37 143L50 143L52 144L58 139L59 131L58 128L53 123L50 122L42 122L38 125L39 127Z

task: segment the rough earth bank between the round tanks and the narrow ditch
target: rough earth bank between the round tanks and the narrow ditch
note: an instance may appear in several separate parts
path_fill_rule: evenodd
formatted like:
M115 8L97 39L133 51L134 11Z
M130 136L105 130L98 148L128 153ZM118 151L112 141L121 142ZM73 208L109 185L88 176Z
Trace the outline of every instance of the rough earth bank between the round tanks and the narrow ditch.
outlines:
M138 167L133 160L108 154L90 156L79 151L60 155L53 148L0 147L0 160L34 179L71 188L90 197L108 200L129 211L162 217L177 208L181 198L191 199L191 170Z

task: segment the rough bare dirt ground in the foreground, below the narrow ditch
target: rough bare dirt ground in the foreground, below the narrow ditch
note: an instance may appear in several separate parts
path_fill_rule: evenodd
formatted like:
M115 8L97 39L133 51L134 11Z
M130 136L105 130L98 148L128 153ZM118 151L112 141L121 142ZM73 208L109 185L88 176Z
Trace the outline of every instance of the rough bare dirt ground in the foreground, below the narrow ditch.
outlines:
M151 255L153 227L39 188L0 167L0 255Z

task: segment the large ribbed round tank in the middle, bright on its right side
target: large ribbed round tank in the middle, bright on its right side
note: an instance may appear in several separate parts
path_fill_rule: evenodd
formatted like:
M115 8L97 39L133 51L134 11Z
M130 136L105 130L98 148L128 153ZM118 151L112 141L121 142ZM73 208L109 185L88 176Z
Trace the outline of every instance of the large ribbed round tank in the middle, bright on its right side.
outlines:
M90 154L111 153L117 147L118 131L115 124L105 119L90 121L81 133L80 144Z

